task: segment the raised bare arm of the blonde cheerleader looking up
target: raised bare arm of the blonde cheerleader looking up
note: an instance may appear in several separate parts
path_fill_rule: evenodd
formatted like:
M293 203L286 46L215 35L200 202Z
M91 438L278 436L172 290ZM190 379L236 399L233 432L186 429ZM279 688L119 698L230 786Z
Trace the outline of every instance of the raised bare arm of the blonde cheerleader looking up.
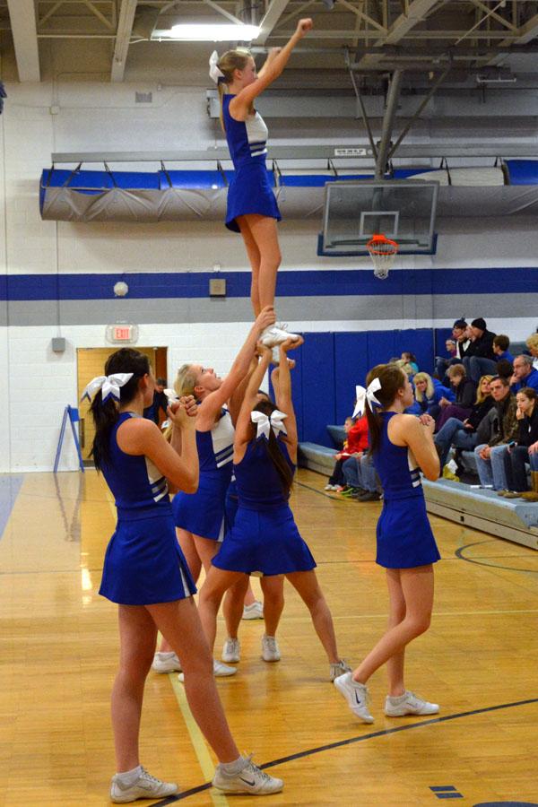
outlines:
M251 327L247 341L239 351L229 374L223 379L219 389L215 389L212 393L207 395L202 404L198 407L198 416L196 418L198 430L205 431L211 429L217 412L221 411L223 404L226 404L230 400L243 378L247 376L250 362L256 351L256 342L260 334L266 327L273 325L274 320L273 306L265 306L256 317L256 322Z

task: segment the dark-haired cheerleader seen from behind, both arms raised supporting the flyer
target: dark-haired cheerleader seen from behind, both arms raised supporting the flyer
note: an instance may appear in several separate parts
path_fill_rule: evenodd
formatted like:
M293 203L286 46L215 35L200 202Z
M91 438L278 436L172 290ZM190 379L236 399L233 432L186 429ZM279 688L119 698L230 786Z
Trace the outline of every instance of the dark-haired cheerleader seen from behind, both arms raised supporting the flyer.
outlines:
M271 351L259 343L261 360L252 374L236 424L233 447L239 508L233 527L213 558L200 590L200 616L210 646L214 645L217 612L222 595L250 574L285 575L310 612L330 664L331 680L351 668L338 655L331 612L317 583L316 562L299 534L288 499L297 463L297 425L291 402L291 374L287 351L302 339L281 343L277 406L256 402L257 389L271 360ZM285 426L284 426L285 421ZM275 633L280 619L278 603L267 609L262 639L265 661L277 661L280 650ZM268 614L272 614L272 623Z

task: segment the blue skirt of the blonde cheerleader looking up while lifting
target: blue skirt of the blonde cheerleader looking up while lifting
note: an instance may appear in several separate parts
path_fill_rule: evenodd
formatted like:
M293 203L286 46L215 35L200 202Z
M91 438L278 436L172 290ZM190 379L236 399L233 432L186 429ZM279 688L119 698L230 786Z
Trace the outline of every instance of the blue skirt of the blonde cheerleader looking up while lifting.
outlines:
M231 463L214 473L200 473L195 493L180 491L172 499L177 527L189 533L222 541L225 533L226 491L230 484Z

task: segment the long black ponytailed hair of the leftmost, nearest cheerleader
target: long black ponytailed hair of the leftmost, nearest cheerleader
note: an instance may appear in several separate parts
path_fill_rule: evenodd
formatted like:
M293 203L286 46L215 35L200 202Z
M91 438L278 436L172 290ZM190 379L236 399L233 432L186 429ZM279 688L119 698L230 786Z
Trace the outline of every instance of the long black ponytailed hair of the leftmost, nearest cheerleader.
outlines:
M147 356L132 348L122 348L108 356L105 364L105 376L116 373L133 373L126 385L119 388L119 403L128 404L138 392L139 380L150 373L150 362ZM91 415L95 424L95 438L91 447L90 456L98 471L110 462L110 432L119 417L119 405L116 398L110 396L103 403L101 390L95 395L90 406Z

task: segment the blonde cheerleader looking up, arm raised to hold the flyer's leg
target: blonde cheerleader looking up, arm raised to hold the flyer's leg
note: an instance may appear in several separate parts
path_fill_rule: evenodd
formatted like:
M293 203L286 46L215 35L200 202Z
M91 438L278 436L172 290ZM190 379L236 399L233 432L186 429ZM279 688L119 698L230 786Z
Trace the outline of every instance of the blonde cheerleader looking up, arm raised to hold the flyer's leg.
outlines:
M247 341L239 351L228 376L221 378L213 368L200 364L184 364L178 370L174 389L178 397L194 395L196 414L196 445L200 458L200 481L195 494L179 490L172 501L178 542L187 559L188 568L195 580L202 567L211 566L213 556L225 533L226 491L231 480L233 453L233 424L239 414L245 392L245 382L256 351L256 341L268 325L274 323L273 308L267 307L256 318ZM230 592L232 611L243 608L244 591ZM220 661L213 662L214 674L226 677L235 674L236 668ZM156 672L181 670L181 661L166 642L161 642L155 654L153 669Z

